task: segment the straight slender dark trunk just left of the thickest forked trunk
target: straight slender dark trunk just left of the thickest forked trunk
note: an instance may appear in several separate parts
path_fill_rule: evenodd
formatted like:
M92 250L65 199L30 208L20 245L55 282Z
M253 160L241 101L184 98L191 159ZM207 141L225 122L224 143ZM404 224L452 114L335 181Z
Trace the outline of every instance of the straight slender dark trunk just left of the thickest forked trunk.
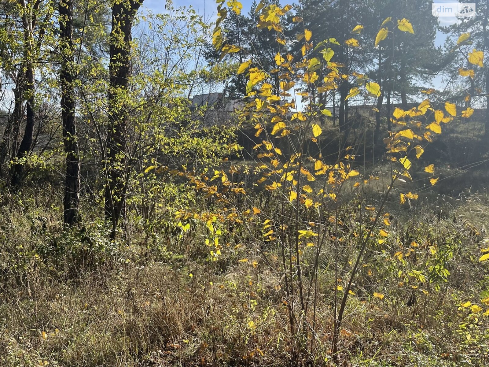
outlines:
M73 1L60 0L61 38L61 114L63 118L63 140L66 153L65 198L63 220L72 225L80 220L80 158L75 120L74 46L73 46Z

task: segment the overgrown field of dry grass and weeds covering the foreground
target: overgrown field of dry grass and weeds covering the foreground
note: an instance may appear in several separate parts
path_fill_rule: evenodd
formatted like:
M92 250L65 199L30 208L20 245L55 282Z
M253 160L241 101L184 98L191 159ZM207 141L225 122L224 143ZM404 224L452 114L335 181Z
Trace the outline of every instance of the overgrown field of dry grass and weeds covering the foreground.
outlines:
M304 343L309 363L333 363L335 303L358 252L357 203L337 210L337 247L323 245L304 340L290 330L273 243L230 224L216 259L198 221L150 233L137 219L114 243L88 203L85 225L64 231L59 197L49 187L2 197L1 366L282 366L301 363ZM484 365L489 269L479 257L488 251L489 192L431 193L387 210L396 218L389 236L362 259L348 298L343 364ZM300 248L304 283L316 246Z

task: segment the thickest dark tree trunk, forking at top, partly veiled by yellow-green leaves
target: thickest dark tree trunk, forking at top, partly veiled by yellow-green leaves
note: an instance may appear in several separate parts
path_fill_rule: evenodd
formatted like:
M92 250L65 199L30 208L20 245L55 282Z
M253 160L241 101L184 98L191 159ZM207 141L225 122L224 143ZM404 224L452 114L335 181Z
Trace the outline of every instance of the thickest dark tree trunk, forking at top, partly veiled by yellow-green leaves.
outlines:
M107 137L107 184L105 187L105 213L111 220L111 237L126 206L127 90L129 86L131 29L134 16L143 0L122 0L112 5L109 63L109 122Z

